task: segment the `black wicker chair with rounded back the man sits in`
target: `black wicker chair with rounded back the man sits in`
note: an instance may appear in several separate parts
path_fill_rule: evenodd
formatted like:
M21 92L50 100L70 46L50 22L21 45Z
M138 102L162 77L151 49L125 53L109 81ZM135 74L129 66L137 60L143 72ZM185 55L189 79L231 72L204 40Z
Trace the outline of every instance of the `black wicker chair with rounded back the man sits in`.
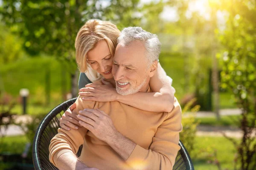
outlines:
M49 161L48 148L51 139L58 133L59 119L61 118L61 115L75 101L76 98L67 100L66 102L63 102L52 109L52 111L45 116L38 126L33 143L33 164L35 170L58 170L58 168L53 166L53 164ZM179 142L179 145L181 149L176 157L173 170L194 170L192 161L186 148L183 146L182 142ZM82 146L80 147L77 156L80 156L81 148Z

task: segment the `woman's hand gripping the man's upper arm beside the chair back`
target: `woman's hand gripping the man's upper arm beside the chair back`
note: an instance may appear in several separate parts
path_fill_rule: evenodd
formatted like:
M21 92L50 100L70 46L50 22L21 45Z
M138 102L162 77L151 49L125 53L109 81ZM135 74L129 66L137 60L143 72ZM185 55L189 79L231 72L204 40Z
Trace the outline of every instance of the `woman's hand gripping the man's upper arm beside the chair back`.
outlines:
M79 119L77 118L75 113L72 113L72 111L76 108L76 103L71 105L67 111L62 115L60 119L60 126L64 130L70 130L72 129L78 129L78 126L81 127L79 124Z

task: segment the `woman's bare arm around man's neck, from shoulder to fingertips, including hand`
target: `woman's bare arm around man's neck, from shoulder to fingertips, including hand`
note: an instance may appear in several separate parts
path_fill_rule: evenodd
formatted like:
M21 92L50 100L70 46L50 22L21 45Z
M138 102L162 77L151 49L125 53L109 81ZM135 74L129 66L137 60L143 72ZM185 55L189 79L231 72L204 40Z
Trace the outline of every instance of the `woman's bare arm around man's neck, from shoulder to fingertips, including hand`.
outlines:
M83 100L97 102L119 101L144 111L170 112L173 108L174 94L171 82L167 79L166 73L158 63L157 71L150 79L151 93L136 93L130 95L120 95L111 83L102 80L105 85L93 82L80 89L79 95Z

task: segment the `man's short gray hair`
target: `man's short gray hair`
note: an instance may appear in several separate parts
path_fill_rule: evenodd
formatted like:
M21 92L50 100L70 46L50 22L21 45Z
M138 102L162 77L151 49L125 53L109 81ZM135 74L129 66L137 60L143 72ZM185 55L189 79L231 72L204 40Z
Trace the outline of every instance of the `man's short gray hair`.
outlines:
M128 27L121 31L117 41L122 46L130 45L134 40L138 40L145 44L146 57L149 64L158 60L161 51L161 42L156 34L151 34L143 30L141 27Z

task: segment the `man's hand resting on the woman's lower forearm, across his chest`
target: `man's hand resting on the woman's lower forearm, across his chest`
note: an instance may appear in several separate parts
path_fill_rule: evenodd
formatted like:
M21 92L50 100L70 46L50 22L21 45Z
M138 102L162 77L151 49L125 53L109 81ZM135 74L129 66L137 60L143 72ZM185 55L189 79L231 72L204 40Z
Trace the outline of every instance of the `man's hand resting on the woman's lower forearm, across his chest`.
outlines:
M84 109L79 111L77 117L80 119L80 125L104 142L108 143L118 133L110 116L99 109Z

